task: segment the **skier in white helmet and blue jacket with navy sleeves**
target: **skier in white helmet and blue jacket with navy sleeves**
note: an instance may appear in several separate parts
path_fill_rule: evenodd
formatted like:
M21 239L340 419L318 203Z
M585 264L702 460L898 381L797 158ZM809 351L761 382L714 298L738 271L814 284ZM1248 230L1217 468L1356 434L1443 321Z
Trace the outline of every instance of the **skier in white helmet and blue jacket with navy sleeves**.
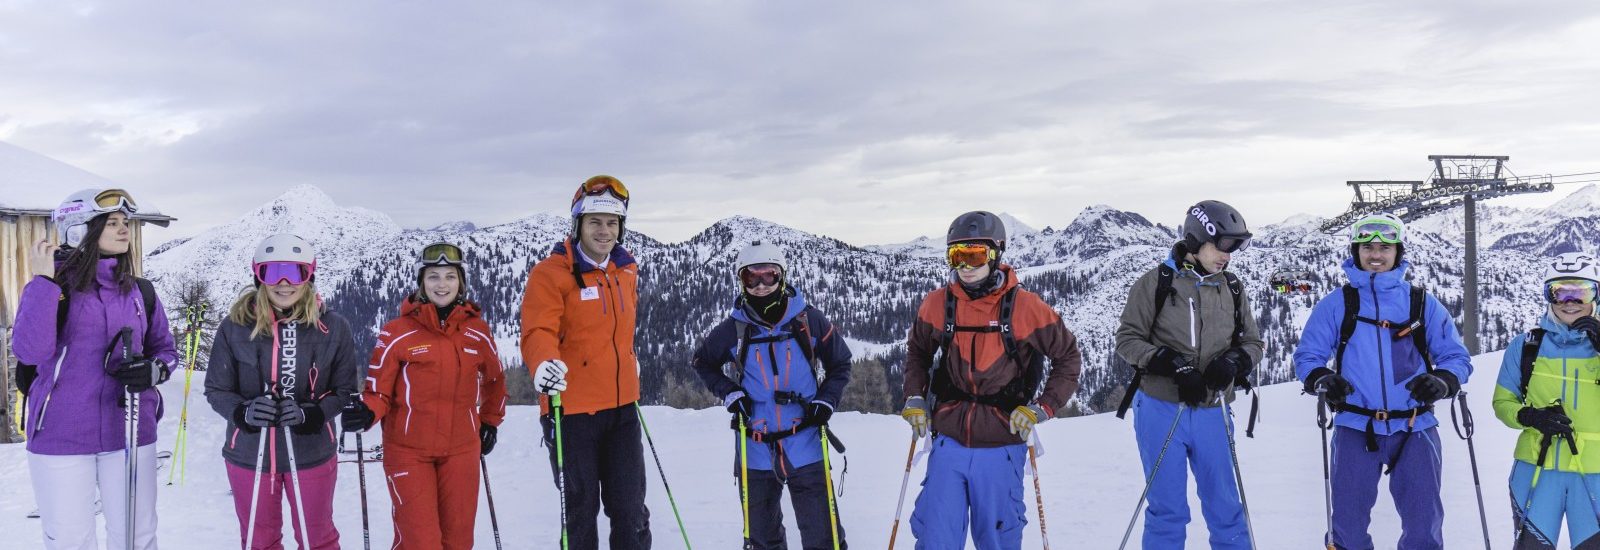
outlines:
M850 384L850 347L790 285L781 248L755 241L734 264L742 293L694 350L694 371L734 414L736 428L742 420L739 446L746 451L736 475L747 491L741 491L747 499L744 547L787 548L779 502L787 484L802 547L846 548L845 528L830 510L819 428ZM730 361L731 376L722 371Z

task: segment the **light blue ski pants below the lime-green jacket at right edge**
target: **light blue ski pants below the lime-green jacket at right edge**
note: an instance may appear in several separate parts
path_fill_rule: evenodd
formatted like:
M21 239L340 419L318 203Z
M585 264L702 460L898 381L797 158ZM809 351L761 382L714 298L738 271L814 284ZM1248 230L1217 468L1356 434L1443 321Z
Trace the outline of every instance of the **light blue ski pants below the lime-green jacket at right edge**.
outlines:
M1562 542L1563 515L1573 548L1600 548L1600 521L1595 520L1600 475L1544 470L1534 484L1534 470L1522 460L1510 467L1512 524L1523 526L1517 548L1555 548Z

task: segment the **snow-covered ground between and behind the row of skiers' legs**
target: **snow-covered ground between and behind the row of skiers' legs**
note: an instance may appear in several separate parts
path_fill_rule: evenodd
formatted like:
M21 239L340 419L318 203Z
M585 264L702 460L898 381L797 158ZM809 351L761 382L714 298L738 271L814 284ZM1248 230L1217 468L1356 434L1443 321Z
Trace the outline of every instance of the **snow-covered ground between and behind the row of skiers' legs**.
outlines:
M1506 507L1506 478L1515 432L1494 419L1490 397L1499 369L1499 352L1475 360L1477 373L1467 385L1478 422L1478 467L1488 508L1490 534L1496 545L1510 539ZM163 387L170 412L162 422L160 449L171 449L178 428L182 379ZM1248 400L1240 401L1243 419ZM222 476L219 456L224 420L205 406L200 376L190 395L190 435L187 483L160 486L160 542L163 548L232 548L238 529ZM741 515L733 483L733 435L725 430L722 409L680 411L646 408L651 435L675 491L683 524L698 548L738 548ZM1299 395L1298 385L1282 384L1262 392L1262 422L1256 438L1238 438L1245 489L1261 548L1310 548L1323 532L1322 457L1314 425L1314 401ZM1445 536L1450 548L1474 548L1482 542L1478 508L1474 497L1467 446L1448 428L1445 440ZM546 449L539 446L536 409L517 406L501 428L499 448L488 457L506 548L552 548L560 532L560 512ZM834 425L848 444L850 472L840 481L838 500L848 540L858 548L886 547L901 473L906 465L907 428L899 417L842 412ZM1040 425L1045 456L1040 457L1050 540L1054 548L1110 548L1122 539L1128 516L1142 488L1131 422L1110 414L1051 420ZM354 438L352 438L354 444ZM368 443L371 444L371 443ZM6 548L38 547L38 520L26 518L34 507L24 448L0 448L0 532ZM648 452L648 449L646 449ZM656 548L678 548L683 540L667 494L661 489L653 462L650 467L650 508ZM835 472L843 460L835 462ZM922 465L912 473L906 497L906 520L898 545L912 547L909 518L917 497ZM373 545L387 548L392 537L389 497L382 491L382 467L366 468L373 518ZM334 508L346 548L362 545L362 515L355 465L341 465ZM163 473L165 483L165 473ZM1029 529L1026 548L1040 548L1034 489L1026 489ZM1195 521L1189 547L1205 548L1200 504L1190 496ZM786 512L787 518L794 515ZM603 516L602 516L603 520ZM602 523L602 529L603 523ZM1373 513L1373 536L1379 547L1392 547L1400 532L1398 518L1384 494ZM790 547L798 548L798 532L789 529ZM486 505L478 508L478 548L493 548ZM1134 531L1138 540L1138 529ZM1136 544L1130 544L1136 547Z

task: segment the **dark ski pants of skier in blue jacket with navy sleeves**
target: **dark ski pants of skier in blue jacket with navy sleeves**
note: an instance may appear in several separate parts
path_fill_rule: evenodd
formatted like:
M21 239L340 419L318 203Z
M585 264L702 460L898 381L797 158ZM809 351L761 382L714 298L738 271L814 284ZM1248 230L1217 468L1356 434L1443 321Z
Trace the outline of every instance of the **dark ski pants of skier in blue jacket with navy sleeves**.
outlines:
M822 462L790 472L787 484L789 504L795 507L795 523L800 526L800 545L805 550L834 548ZM784 507L779 502L782 496L784 480L776 472L750 470L750 540L757 550L789 548L784 537ZM848 547L843 526L838 528L838 547Z

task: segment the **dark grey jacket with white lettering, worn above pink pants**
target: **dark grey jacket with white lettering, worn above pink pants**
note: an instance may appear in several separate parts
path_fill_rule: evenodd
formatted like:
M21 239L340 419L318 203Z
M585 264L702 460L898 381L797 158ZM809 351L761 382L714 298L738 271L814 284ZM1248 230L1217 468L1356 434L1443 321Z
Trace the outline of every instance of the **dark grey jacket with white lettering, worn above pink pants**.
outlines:
M264 395L270 385L280 395L322 409L323 425L315 433L270 428L269 470L288 468L283 433L294 441L294 459L301 470L326 462L338 449L334 419L347 400L360 398L362 377L366 376L362 355L355 353L349 323L333 312L323 312L322 321L312 326L277 323L272 334L256 337L250 331L251 326L224 318L211 341L205 398L213 411L229 420L222 457L245 468L256 467L261 435L237 425L234 409Z

